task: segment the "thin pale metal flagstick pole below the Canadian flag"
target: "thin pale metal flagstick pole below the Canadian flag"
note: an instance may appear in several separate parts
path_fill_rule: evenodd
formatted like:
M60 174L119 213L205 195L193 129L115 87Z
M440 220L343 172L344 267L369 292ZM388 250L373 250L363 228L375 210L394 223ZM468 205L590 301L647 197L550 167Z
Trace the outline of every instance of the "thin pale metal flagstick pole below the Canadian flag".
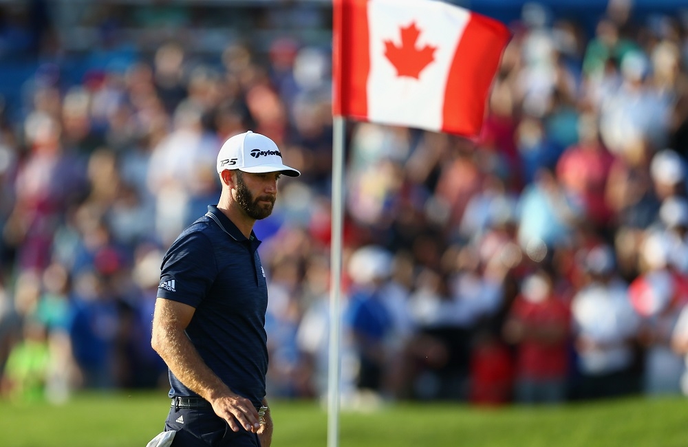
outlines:
M330 243L330 351L327 373L327 447L339 443L339 398L341 393L341 275L343 233L345 118L332 122L332 235Z

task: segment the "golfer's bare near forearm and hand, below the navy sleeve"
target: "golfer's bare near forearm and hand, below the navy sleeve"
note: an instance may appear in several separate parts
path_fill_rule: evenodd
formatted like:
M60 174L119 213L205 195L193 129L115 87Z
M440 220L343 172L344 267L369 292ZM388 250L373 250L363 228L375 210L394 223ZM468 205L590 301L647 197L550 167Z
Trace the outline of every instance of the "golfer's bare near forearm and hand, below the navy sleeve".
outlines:
M206 365L186 336L184 330L194 312L193 307L184 303L158 298L153 314L151 346L175 377L210 402L213 411L225 419L232 430L239 431L241 424L246 430L257 433L261 425L251 401L233 393Z

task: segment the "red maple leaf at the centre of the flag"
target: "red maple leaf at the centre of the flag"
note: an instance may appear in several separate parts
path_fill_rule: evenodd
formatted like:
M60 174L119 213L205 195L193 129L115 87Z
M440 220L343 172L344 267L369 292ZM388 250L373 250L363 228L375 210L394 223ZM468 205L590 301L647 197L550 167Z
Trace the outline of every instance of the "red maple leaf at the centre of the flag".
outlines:
M392 41L385 41L385 56L396 68L396 76L409 76L418 79L422 69L435 60L433 53L437 47L425 45L422 49L416 49L416 41L420 30L416 28L416 22L406 28L400 28L401 46L398 47Z

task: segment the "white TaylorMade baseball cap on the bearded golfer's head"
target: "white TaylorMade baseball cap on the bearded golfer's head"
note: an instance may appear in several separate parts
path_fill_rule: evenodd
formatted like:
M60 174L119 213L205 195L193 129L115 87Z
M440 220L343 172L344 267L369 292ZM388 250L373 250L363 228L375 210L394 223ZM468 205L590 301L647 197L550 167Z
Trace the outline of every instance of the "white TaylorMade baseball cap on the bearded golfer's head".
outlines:
M280 172L289 177L301 173L282 163L282 154L270 138L252 131L239 133L222 144L217 154L217 173L239 169L246 173Z

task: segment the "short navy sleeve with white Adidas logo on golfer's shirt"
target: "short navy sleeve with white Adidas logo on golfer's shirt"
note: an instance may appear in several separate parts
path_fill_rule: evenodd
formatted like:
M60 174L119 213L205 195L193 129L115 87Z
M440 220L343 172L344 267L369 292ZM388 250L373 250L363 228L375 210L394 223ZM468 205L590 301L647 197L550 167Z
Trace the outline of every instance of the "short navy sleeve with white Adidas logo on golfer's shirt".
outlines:
M215 276L217 264L211 241L201 232L186 233L162 260L158 297L198 307Z

